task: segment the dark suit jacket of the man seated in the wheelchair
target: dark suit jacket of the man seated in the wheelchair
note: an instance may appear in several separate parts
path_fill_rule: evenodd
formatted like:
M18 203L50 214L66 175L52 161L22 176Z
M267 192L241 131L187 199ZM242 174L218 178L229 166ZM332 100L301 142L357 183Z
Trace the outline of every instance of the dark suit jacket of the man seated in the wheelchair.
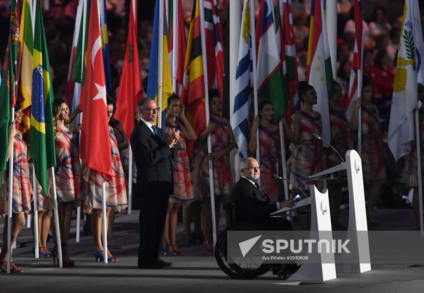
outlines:
M259 186L255 187L247 179L240 177L231 190L230 201L234 203L235 223L251 223L266 229L271 222L271 213L277 210L276 204Z

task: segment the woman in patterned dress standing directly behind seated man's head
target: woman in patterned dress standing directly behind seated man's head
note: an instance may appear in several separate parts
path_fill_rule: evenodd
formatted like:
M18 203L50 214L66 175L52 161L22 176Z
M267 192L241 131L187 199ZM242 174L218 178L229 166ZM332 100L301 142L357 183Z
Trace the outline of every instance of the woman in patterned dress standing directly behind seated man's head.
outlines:
M262 100L258 105L259 115L253 120L249 151L256 153L256 131L259 128L259 156L261 166L261 187L271 199L271 203L278 201L278 181L272 176L277 174L279 162L279 128L271 124L274 117L274 107L270 100Z

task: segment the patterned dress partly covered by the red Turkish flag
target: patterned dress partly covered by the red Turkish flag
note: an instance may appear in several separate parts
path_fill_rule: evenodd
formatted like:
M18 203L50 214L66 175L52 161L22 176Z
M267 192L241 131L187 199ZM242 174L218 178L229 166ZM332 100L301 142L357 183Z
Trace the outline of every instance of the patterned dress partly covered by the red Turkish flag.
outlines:
M118 145L110 126L109 137L112 148L112 180L106 181L106 207L118 210L127 205L127 193ZM84 198L83 212L91 213L92 209L102 208L102 176L99 172L85 167L84 174L86 173L88 173L88 180L86 181L87 193Z

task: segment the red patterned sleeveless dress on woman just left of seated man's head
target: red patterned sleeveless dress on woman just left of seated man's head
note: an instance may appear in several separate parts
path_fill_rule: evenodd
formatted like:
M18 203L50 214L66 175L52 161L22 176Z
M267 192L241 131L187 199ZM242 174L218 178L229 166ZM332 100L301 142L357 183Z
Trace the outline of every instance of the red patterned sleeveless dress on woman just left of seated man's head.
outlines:
M221 117L211 117L211 122L219 127L211 132L212 152L220 151L229 143L231 127L228 120ZM191 178L193 182L193 192L196 200L210 197L209 186L209 158L208 145L205 142L202 148L193 150ZM212 161L214 195L229 197L233 186L232 173L230 169L230 156L228 153L219 159Z

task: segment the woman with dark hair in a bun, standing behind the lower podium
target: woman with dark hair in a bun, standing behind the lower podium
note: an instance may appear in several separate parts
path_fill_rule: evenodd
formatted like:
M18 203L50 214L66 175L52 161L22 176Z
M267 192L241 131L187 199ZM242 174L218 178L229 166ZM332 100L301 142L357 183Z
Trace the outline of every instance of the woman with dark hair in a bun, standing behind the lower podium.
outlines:
M303 103L300 111L292 116L292 126L283 119L285 133L290 139L290 151L293 155L287 160L290 181L297 185L306 194L310 194L309 185L315 184L320 189L322 181L310 180L309 176L325 170L325 156L322 143L312 138L312 134L321 135L321 114L313 111L312 106L317 103L318 97L315 89L305 81L298 83L298 95ZM304 198L298 188L290 184L289 189ZM303 230L310 229L309 216L299 217Z

